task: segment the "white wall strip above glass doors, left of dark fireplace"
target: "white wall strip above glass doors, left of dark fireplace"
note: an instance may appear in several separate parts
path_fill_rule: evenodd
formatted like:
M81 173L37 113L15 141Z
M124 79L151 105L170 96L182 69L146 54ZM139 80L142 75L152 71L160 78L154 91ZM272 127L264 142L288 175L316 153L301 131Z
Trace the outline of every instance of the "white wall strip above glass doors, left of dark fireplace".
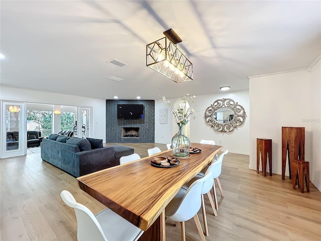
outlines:
M93 107L93 138L106 141L106 100L1 86L2 100Z

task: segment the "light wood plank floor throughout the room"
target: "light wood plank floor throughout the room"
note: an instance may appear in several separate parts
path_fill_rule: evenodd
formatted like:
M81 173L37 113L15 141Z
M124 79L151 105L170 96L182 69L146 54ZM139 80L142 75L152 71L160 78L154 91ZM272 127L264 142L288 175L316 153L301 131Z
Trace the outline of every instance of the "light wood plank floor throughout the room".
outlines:
M141 157L147 149L163 144L121 144L133 147ZM310 193L293 190L280 175L263 177L248 169L249 157L229 153L224 157L218 191L218 216L206 200L207 240L321 240L321 193L310 183ZM77 223L72 208L60 192L69 190L93 213L105 208L84 193L76 179L43 162L39 153L0 160L0 240L76 240ZM203 225L202 213L199 218ZM181 240L180 226L167 222L167 240ZM186 222L186 240L200 240L194 220ZM122 240L120 240L122 241ZM152 240L151 240L152 241Z

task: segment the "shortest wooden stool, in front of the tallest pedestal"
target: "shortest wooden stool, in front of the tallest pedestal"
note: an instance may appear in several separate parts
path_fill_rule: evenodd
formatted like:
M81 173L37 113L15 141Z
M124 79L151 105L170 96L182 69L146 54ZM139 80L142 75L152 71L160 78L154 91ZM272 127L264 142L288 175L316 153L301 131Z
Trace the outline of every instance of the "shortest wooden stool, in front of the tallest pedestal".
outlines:
M293 160L293 178L292 178L292 188L295 189L296 183L301 190L301 193L304 193L304 179L306 185L306 192L310 192L310 170L309 162L303 160Z

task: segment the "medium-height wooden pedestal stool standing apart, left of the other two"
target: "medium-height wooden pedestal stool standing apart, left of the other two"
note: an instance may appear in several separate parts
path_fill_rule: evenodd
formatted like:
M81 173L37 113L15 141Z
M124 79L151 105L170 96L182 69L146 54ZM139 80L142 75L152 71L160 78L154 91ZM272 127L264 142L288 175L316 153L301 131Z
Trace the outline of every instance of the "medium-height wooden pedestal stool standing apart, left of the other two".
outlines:
M262 160L262 175L266 177L267 155L269 157L270 176L272 176L272 139L256 139L256 173L259 173L260 153Z

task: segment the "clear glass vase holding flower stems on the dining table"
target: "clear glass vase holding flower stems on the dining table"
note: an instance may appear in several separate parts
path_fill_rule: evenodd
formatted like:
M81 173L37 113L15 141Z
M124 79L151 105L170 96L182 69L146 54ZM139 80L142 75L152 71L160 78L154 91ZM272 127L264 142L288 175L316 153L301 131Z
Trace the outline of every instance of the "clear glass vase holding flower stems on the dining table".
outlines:
M190 139L184 135L185 125L179 124L178 133L172 138L173 154L177 157L186 157L190 154Z

